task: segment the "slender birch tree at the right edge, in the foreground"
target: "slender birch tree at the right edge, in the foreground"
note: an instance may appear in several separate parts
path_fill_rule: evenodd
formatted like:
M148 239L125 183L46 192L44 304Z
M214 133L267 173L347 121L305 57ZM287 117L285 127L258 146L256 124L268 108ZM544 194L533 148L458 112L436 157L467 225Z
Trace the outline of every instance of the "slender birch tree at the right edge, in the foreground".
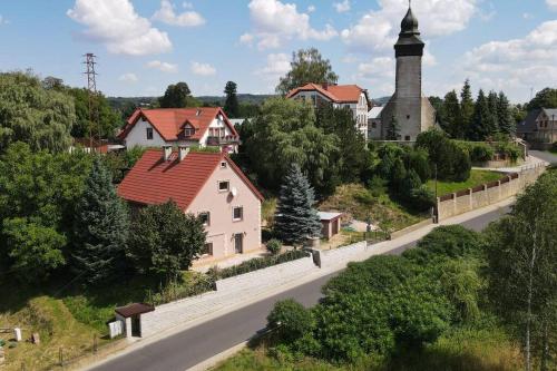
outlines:
M529 186L488 231L490 297L524 340L525 369L548 370L557 333L557 172ZM554 364L555 365L555 364Z

